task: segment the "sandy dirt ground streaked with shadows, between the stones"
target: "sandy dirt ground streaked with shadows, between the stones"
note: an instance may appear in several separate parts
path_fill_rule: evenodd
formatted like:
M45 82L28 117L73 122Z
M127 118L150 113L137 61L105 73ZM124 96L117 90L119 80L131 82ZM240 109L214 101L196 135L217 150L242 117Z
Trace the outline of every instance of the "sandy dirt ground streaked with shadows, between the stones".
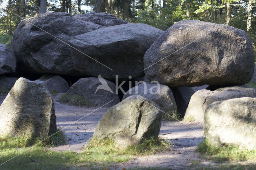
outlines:
M56 122L58 127L64 128L63 131L68 140L66 145L54 147L52 150L82 152L86 141L92 137L98 121L108 108L68 106L57 102L58 97L59 95L53 97ZM138 166L150 166L183 169L184 167L189 168L194 161L201 162L201 164L212 164L202 160L194 151L196 146L204 140L202 123L162 122L159 136L174 143L172 152L138 157L126 163L113 164L109 168L122 170Z

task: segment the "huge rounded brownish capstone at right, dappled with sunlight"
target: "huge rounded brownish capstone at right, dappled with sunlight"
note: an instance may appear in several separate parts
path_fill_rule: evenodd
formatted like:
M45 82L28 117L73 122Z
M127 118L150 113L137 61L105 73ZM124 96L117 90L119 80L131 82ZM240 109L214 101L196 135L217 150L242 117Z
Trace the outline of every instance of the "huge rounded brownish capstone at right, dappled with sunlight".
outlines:
M243 30L182 20L147 50L144 69L148 80L169 87L242 85L252 78L254 54Z

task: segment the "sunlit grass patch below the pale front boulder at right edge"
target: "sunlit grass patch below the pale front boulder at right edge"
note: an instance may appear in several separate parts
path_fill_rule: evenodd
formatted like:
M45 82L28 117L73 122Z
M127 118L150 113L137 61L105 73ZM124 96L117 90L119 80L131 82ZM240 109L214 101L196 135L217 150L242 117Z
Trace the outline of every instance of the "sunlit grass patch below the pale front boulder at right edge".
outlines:
M256 162L256 150L242 150L234 146L211 146L207 140L201 142L196 151L203 157L215 160L217 162L223 162L226 160L234 161L246 161L250 160Z

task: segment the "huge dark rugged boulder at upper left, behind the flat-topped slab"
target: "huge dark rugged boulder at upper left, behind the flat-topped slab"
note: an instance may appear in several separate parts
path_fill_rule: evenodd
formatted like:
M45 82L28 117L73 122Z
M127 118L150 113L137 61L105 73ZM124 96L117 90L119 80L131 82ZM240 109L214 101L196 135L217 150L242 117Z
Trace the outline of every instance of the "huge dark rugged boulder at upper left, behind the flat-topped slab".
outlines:
M126 23L111 14L87 15L99 20L108 18L109 23L114 20L113 24ZM104 27L90 22L90 18L86 20L84 15L72 16L64 12L46 12L26 18L14 31L11 42L17 69L30 73L82 75L74 68L68 41L73 36Z

